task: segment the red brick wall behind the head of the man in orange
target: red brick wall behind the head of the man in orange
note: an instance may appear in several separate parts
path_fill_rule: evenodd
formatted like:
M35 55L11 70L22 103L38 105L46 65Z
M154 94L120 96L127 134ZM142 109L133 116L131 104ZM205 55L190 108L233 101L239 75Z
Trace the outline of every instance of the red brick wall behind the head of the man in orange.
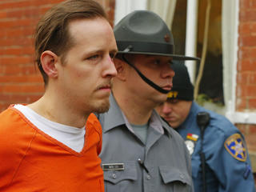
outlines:
M51 6L63 0L0 1L0 112L11 103L30 103L44 87L34 66L34 29ZM114 20L114 0L97 0Z

